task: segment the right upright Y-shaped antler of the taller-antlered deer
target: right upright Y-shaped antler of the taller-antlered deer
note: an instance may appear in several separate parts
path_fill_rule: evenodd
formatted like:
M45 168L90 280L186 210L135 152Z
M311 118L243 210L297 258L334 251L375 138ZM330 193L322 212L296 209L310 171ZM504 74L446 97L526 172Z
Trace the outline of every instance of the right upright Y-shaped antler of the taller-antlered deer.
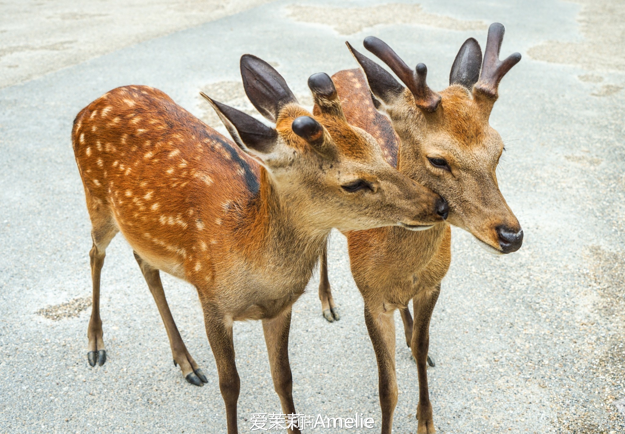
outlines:
M499 81L506 75L507 71L510 71L512 66L521 60L521 54L519 53L510 54L503 61L499 60L499 49L501 49L505 32L506 29L500 23L492 23L488 28L482 72L479 75L479 81L475 85L476 91L480 91L491 98L497 98Z

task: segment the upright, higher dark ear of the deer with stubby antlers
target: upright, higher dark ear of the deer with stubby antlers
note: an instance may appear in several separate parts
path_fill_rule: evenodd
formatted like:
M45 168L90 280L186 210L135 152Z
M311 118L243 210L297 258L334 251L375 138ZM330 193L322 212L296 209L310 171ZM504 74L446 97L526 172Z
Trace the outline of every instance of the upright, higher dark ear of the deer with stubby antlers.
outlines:
M247 98L254 107L272 122L275 122L280 109L297 99L286 81L266 61L244 54L241 56L241 78Z

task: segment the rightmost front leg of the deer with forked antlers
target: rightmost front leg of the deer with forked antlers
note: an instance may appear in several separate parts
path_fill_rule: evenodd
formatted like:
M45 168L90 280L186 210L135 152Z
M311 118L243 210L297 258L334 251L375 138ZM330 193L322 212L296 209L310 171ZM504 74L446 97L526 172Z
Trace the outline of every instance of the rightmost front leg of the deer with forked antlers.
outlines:
M429 401L427 390L427 350L429 348L429 321L432 311L436 306L436 300L441 292L439 283L434 290L424 290L422 295L417 295L412 300L414 310L414 325L412 326L412 356L417 362L417 374L419 375L419 404L417 405L418 434L434 434L434 420L432 420L432 405Z

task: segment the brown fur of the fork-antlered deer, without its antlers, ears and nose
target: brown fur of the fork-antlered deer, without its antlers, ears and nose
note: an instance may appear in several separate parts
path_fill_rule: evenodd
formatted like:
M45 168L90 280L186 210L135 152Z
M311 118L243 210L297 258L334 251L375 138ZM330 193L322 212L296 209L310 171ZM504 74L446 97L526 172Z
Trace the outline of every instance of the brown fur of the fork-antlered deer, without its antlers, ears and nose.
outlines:
M417 108L406 89L379 113L360 69L340 71L332 77L346 119L375 136L389 161L412 179L440 193L449 203L449 217L427 231L397 227L347 232L352 275L364 298L365 320L376 351L382 433L390 433L397 402L392 312L399 309L406 343L419 372L419 434L435 432L427 391L426 358L429 319L451 261L451 228L471 232L491 250L499 250L496 227L519 228L497 187L495 169L503 143L488 124L492 101L480 101L466 88L452 85L442 91L433 113ZM397 156L397 157L395 157ZM454 174L433 168L428 157L441 157ZM520 229L520 228L519 228ZM332 321L336 306L321 261L319 296L324 316ZM406 306L413 300L415 320ZM337 319L337 318L336 318Z

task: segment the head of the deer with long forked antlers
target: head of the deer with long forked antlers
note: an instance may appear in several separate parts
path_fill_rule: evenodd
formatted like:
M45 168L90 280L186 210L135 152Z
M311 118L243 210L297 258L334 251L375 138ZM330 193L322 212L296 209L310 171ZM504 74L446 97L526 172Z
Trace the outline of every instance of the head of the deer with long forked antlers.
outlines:
M441 194L449 203L449 223L469 231L492 253L516 251L523 239L497 186L504 144L488 122L499 81L521 59L514 53L499 61L503 36L504 26L491 24L483 62L477 41L467 39L451 68L449 87L440 93L427 86L424 64L413 71L380 39L370 36L364 46L405 88L347 43L366 74L376 108L389 116L399 136L397 167Z

